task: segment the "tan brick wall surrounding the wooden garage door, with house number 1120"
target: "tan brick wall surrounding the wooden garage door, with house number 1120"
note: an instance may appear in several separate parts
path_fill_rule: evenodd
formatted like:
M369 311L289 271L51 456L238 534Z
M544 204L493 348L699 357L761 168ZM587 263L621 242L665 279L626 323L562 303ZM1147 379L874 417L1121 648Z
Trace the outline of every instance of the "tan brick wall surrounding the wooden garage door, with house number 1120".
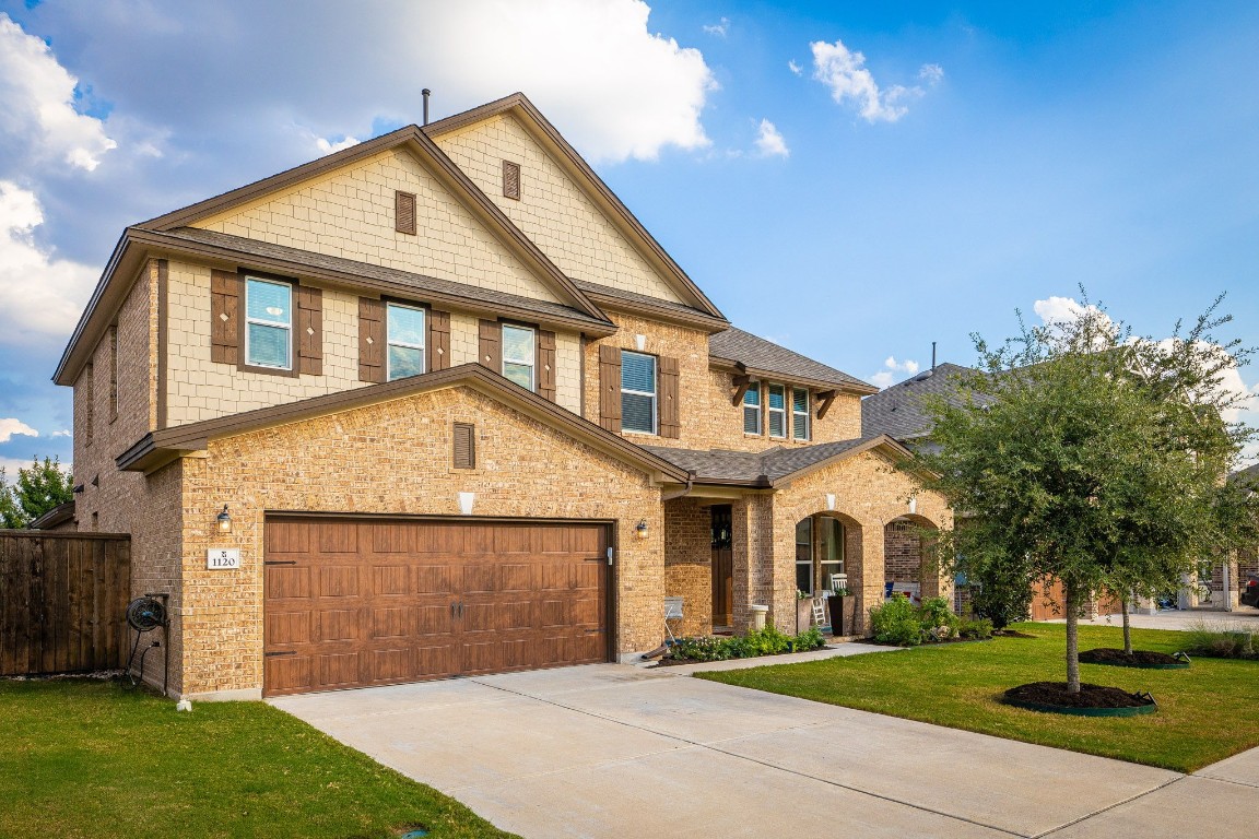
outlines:
M451 426L476 424L477 469L451 463ZM642 472L466 387L417 394L210 443L183 460L183 580L188 694L262 688L266 511L609 520L616 525L619 653L662 634L663 509ZM563 487L564 492L555 492ZM230 504L233 532L214 517ZM653 536L635 536L645 520ZM205 550L242 548L239 571L206 571Z

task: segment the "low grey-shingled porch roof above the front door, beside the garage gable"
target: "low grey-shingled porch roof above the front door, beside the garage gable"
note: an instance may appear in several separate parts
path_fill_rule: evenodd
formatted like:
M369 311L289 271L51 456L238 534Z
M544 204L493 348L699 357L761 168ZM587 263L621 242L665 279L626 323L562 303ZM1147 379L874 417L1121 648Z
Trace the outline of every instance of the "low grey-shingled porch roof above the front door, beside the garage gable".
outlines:
M778 488L793 481L862 452L878 450L894 460L912 458L913 453L890 436L878 435L807 447L778 447L768 452L729 452L711 449L671 449L660 445L642 447L679 468L691 473L695 483Z

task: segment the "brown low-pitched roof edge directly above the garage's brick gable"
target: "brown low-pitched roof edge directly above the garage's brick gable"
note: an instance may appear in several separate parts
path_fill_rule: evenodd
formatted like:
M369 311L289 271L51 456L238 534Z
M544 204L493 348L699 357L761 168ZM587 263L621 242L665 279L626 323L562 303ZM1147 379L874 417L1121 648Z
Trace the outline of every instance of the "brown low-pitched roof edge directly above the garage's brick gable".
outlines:
M356 408L454 386L471 387L522 414L541 420L551 429L650 474L660 474L665 479L676 482L684 482L687 478L685 469L660 455L637 447L621 435L613 434L476 364L150 431L115 458L115 463L118 469L123 470L151 472L185 454L204 450L210 440L276 425L300 423L316 416L340 414Z

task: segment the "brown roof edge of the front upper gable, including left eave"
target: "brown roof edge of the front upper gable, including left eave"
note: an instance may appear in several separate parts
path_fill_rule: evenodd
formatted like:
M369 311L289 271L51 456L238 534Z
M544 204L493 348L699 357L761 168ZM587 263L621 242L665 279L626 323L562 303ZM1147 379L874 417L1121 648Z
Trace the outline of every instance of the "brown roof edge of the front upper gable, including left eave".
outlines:
M472 182L472 180L463 174L463 171L446 156L437 143L428 138L419 126L407 126L404 128L398 128L387 135L381 135L374 140L361 142L356 146L344 148L339 152L327 155L326 157L320 157L319 160L296 166L293 169L279 172L278 175L272 175L271 177L264 177L261 181L254 181L253 184L247 184L239 189L223 192L214 197L206 199L204 201L198 201L196 204L190 204L183 209L175 210L172 213L166 213L155 219L150 219L138 225L135 225L135 230L149 230L156 233L169 233L179 228L186 228L194 225L195 223L208 219L210 216L230 210L235 206L242 206L251 201L256 201L266 195L278 192L281 190L296 186L303 181L326 175L329 172L336 171L339 169L350 166L361 160L366 160L373 155L378 155L384 151L393 148L407 148L415 158L423 165L452 195L458 199L465 208L476 218L481 224L486 226L492 234L495 234L504 247L507 248L521 263L533 270L544 284L548 286L560 301L567 302L574 309L583 312L594 321L601 321L604 323L611 323L608 317L599 309L596 303L585 296L585 293L577 287L577 284L560 270L555 263L553 263L539 248L533 243L529 236L526 236L512 221L509 219L499 206L490 200L481 189ZM113 254L106 265L104 272L97 283L96 291L92 293L92 298L88 301L87 308L83 311L78 325L71 336L69 343L65 347L65 352L62 355L62 362L58 365L54 380L59 384L67 384L65 380L73 380L78 375L78 366L74 364L77 356L76 346L84 336L89 340L91 345L96 345L99 341L101 335L104 333L104 328L108 326L108 321L112 319L115 308L106 307L103 311L101 308L102 301L115 301L121 304L126 294L111 294L108 287L112 284L130 284L135 281L135 275L116 275L116 268L120 264L120 259L126 250L128 244L127 236L123 235L115 247ZM116 298L116 299L115 299Z

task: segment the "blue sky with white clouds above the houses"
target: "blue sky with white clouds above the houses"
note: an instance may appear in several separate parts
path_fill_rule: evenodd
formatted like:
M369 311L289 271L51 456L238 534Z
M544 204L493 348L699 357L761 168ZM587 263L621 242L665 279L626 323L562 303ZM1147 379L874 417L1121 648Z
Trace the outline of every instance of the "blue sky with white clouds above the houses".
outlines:
M522 89L737 325L866 380L1080 284L1155 337L1226 292L1259 345L1255 44L1250 3L0 0L0 464L69 460L49 376L127 224L424 86Z

